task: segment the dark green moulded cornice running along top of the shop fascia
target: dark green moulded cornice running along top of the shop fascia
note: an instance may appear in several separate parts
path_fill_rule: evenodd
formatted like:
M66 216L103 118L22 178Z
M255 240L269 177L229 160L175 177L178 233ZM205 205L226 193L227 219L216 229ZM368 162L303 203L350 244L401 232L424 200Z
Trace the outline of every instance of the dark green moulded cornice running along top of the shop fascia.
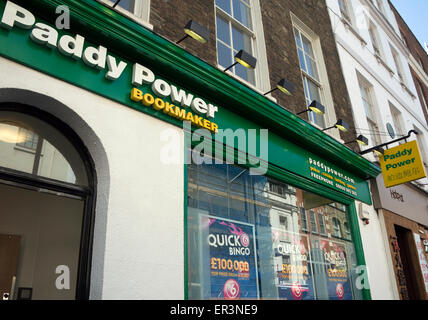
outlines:
M296 141L357 176L370 179L381 172L370 161L271 100L96 1L32 0L31 4L22 0L16 2L37 8L37 12L43 12L51 19L54 15L49 15L49 12L53 13L57 5L67 5L72 21L75 22L73 26L77 25L75 33L79 32L80 28L84 30L85 35L92 36L92 42L96 40L113 52L121 52L128 60L142 60L159 75L179 73L183 88L207 98L215 96L219 105L233 106L235 112L257 119L262 127L273 130L290 141Z

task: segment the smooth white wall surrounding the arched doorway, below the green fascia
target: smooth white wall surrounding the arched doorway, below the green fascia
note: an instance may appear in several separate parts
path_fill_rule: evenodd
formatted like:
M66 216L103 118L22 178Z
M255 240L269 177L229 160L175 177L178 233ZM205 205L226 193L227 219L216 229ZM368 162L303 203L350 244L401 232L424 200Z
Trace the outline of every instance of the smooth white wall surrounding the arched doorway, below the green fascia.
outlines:
M0 65L9 75L0 79L1 101L58 117L94 159L100 179L91 299L183 299L184 170L160 159L167 142L160 137L182 144L183 131L10 60Z

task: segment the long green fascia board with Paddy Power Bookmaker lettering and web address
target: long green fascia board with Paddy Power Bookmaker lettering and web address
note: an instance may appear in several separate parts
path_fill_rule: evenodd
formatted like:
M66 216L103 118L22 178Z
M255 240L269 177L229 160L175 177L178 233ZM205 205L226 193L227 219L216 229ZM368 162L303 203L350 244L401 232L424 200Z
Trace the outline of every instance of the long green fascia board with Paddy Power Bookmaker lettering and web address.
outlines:
M126 48L127 58L125 55L120 56L119 49L114 52L96 42L105 43L105 34L102 32L99 36L94 36L92 33L86 35L61 29L24 8L33 1L22 0L20 3L23 5L0 0L1 57L183 129L185 126L182 126L182 122L191 122L194 129L210 131L209 139L216 143L216 148L220 146L219 149L224 149L225 153L239 151L240 159L247 155L248 158L255 159L254 163L244 159L252 167L257 164L261 166L260 161L263 159L263 165L272 164L284 168L342 195L371 204L368 183L363 177L354 175L344 166L338 167L328 159L316 156L304 146L273 131L269 131L267 136L265 127L250 113L238 112L232 103L223 101L223 105L217 107L220 100L215 93L227 93L226 88L214 88L213 83L207 82L206 85L211 86L211 93L205 95L207 88L203 87L203 82L199 82L203 78L192 72L186 72L186 77L181 76L184 70L176 65L181 60L173 59L168 64L169 67L158 68L157 62L151 58L155 52L149 49L147 52L140 49L131 52ZM42 5L42 1L37 3ZM158 39L157 35L146 32L144 28L141 32L148 44L157 39L159 42L153 43L155 48L163 43L171 50L172 56L180 55L181 59L181 49ZM135 59L135 55L140 56L137 61L129 60L129 56ZM58 92L58 95L61 94ZM196 135L192 137L197 138ZM198 146L202 147L209 140L204 136L200 139L203 142L192 142L200 142ZM258 147L262 143L263 148ZM205 152L211 150L208 147L204 149ZM241 164L239 161L238 164Z

